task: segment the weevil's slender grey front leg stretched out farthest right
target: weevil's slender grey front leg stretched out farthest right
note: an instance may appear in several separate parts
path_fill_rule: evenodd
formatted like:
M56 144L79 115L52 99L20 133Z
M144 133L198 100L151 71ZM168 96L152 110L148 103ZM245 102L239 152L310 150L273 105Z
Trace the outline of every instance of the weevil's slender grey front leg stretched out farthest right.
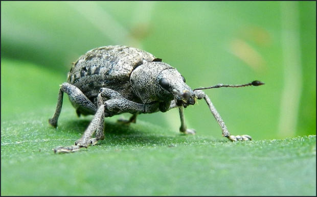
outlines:
M227 129L227 126L225 126L220 114L218 113L218 111L216 110L215 106L212 104L212 102L210 101L209 97L201 90L196 90L195 94L197 95L198 99L205 99L207 105L209 106L209 109L211 111L211 113L214 115L214 117L216 118L218 124L221 127L222 130L222 136L223 137L227 137L228 139L230 139L231 141L237 141L237 140L252 140L252 137L249 135L231 135Z

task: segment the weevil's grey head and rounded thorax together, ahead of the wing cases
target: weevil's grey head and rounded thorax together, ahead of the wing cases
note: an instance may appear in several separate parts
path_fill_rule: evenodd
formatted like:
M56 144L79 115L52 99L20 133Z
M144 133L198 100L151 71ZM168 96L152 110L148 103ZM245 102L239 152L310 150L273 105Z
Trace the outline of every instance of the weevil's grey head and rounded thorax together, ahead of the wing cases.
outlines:
M196 95L185 83L185 78L164 62L143 61L131 72L130 83L144 104L159 101L169 107L172 100L175 100L177 106L195 104Z

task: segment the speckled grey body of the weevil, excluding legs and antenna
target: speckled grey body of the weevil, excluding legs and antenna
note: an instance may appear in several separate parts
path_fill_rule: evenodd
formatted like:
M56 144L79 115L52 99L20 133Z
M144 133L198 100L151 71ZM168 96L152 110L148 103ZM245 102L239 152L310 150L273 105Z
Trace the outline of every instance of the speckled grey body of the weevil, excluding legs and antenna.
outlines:
M161 62L153 55L128 46L105 46L90 50L81 56L68 73L67 82L78 87L92 101L97 109L97 96L101 88L119 92L125 99L140 103L156 103L159 111L169 109L174 95L159 84L159 80L170 78L177 89L192 91L182 76L172 66ZM192 92L194 97L194 93ZM78 105L71 99L77 114L95 114L95 110ZM152 113L155 111L144 111ZM108 112L118 115L119 112Z

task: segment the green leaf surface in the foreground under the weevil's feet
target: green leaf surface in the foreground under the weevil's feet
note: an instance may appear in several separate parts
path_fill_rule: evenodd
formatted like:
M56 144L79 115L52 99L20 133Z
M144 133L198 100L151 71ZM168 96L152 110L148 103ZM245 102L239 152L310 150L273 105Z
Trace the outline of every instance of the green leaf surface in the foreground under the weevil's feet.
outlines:
M71 113L73 112L73 113ZM1 122L2 195L314 195L316 137L230 142L184 136L148 122L106 119L105 140L71 154L90 118L63 108Z

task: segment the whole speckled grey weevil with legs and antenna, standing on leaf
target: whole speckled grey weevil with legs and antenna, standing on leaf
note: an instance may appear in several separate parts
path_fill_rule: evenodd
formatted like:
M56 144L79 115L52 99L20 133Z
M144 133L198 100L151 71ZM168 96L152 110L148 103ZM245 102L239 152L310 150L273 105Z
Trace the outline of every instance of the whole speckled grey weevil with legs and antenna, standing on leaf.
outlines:
M253 81L243 85L217 84L191 89L174 67L150 53L123 45L95 48L74 63L67 75L67 82L60 86L57 107L49 123L57 127L64 93L69 95L78 116L94 117L75 145L59 146L54 152L75 152L82 147L95 145L104 139L104 118L122 113L132 114L129 120L124 121L129 124L135 123L138 114L166 112L178 108L179 131L184 134L195 134L196 131L188 129L185 124L184 108L194 105L196 100L200 99L205 99L221 127L223 137L231 141L252 140L249 135L231 135L211 100L202 90L263 84Z

